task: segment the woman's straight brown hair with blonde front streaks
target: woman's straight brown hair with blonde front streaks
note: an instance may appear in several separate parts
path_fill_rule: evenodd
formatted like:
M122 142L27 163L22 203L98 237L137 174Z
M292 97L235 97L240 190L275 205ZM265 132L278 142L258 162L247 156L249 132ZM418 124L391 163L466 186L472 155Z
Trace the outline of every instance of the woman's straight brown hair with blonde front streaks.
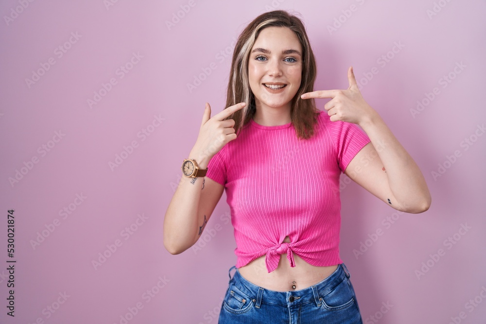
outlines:
M301 99L300 96L313 91L317 74L314 53L302 21L283 10L261 14L251 21L238 37L231 62L226 107L238 102L245 102L246 106L228 119L235 120L234 127L238 134L255 113L255 98L248 81L248 58L260 31L266 27L290 28L302 46L302 77L300 87L292 99L291 120L299 138L310 138L314 134L317 108L314 99Z

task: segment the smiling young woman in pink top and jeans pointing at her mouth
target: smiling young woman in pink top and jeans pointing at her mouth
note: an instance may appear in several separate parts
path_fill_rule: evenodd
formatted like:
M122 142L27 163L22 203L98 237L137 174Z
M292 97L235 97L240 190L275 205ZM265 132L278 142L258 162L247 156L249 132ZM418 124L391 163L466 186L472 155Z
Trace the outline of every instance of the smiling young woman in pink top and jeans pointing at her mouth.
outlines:
M166 249L187 250L226 188L237 264L219 323L362 323L339 257L342 172L392 208L429 208L416 163L347 76L346 90L313 91L304 25L285 11L239 36L227 108L211 118L206 103L164 222Z

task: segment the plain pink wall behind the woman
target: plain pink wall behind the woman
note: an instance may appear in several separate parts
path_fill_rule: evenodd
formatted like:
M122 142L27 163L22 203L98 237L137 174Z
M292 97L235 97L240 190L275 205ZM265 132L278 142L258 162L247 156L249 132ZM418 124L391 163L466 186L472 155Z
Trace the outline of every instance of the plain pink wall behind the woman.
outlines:
M236 262L226 195L198 249L170 255L163 218L204 103L225 108L235 37L273 8L304 17L315 89L347 88L354 67L432 193L429 211L400 215L343 177L341 257L365 323L486 323L485 1L108 1L0 4L1 305L8 209L17 260L1 323L217 322Z

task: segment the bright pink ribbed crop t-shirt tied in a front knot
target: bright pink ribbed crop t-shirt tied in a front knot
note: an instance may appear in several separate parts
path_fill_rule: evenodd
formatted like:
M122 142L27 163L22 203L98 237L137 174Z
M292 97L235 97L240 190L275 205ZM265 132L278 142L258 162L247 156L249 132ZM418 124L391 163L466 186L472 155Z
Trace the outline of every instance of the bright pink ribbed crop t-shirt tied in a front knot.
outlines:
M292 123L262 126L251 119L209 161L206 176L226 189L237 268L266 255L270 273L281 254L292 267L293 254L314 266L342 263L339 176L370 140L326 112L317 120L314 136L302 140Z

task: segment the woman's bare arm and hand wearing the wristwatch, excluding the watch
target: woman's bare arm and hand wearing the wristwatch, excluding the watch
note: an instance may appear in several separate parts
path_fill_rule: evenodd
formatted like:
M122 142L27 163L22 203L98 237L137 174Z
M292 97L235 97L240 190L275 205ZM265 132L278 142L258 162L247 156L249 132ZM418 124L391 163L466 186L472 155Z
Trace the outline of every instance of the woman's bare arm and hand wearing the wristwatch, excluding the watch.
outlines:
M237 103L210 118L211 108L206 103L201 129L188 157L194 159L200 169L206 169L212 156L236 138L235 121L226 118L244 106L244 102ZM182 176L165 213L164 246L167 251L182 253L199 239L223 190L224 186L209 178Z

